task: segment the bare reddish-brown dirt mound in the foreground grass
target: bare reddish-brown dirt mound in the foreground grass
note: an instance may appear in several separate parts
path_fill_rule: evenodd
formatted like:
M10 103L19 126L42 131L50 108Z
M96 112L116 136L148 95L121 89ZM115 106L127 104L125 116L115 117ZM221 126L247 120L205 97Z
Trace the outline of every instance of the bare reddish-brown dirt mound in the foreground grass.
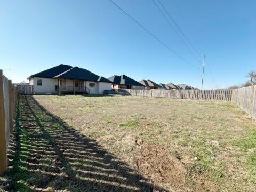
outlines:
M142 174L156 182L170 183L179 189L186 185L185 165L164 148L142 146L137 166Z

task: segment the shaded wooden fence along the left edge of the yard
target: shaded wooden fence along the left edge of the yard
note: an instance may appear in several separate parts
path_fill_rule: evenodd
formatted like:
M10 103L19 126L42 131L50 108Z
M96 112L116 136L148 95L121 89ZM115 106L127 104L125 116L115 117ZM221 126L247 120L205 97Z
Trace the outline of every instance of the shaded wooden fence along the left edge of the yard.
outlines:
M18 100L18 87L0 70L0 173L7 170L7 147L13 132L13 118Z

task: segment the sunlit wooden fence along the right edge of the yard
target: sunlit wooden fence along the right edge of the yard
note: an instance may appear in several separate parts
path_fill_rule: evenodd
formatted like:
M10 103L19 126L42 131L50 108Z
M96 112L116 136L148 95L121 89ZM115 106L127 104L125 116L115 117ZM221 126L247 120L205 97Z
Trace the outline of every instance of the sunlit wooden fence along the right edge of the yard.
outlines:
M233 90L232 101L256 119L256 85Z

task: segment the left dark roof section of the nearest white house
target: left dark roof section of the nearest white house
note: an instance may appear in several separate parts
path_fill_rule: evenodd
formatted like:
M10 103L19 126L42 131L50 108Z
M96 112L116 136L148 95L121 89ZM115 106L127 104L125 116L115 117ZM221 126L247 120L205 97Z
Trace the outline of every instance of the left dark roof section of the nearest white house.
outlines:
M46 69L40 73L31 75L30 77L45 77L45 78L53 78L61 73L63 73L64 71L73 68L72 66L69 65L64 65L64 64L60 64L56 67L52 67L50 69Z

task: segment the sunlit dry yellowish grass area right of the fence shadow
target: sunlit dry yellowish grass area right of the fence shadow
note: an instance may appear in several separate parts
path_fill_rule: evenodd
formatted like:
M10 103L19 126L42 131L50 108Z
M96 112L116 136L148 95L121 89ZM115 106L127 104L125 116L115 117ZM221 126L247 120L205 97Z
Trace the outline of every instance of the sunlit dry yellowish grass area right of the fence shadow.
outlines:
M234 103L130 96L34 98L166 189L256 187L256 123Z

